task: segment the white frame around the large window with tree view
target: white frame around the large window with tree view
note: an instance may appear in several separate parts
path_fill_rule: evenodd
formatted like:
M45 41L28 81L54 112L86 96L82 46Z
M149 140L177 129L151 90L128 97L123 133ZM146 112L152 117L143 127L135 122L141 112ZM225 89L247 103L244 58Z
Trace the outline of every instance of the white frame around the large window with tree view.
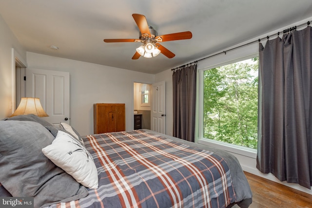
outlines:
M208 138L203 137L203 119L204 119L203 118L203 87L204 87L203 74L204 74L204 71L259 56L259 53L257 51L253 52L253 50L254 48L251 48L250 50L245 50L245 51L241 50L242 51L241 53L239 53L239 50L237 50L238 52L236 51L236 54L232 56L228 56L226 58L223 57L223 59L216 58L213 61L205 62L197 66L197 72L198 72L198 78L197 78L198 80L197 82L198 83L198 88L197 88L198 105L197 105L197 108L198 108L198 111L196 113L196 116L197 116L196 120L198 121L198 123L197 123L197 132L196 132L197 136L195 136L195 142L199 144L211 146L214 148L218 148L221 150L229 151L235 154L240 154L240 155L248 156L251 158L256 158L257 150L255 149L247 148L247 147L243 147L239 145L234 145L234 144L230 144L230 143L226 143L222 141L216 141L213 139L208 139Z

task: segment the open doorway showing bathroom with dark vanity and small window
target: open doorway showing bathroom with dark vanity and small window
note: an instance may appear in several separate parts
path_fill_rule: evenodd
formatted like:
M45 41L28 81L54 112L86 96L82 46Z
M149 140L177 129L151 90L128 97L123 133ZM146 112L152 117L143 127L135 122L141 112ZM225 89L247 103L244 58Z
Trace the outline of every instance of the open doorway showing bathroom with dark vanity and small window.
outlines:
M134 82L134 129L151 129L151 84Z

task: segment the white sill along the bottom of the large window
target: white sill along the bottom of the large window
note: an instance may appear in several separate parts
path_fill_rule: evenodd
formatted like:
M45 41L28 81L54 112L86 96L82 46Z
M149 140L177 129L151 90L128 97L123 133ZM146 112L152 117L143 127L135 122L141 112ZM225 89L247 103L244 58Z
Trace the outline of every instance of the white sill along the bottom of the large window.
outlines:
M246 157L256 158L257 157L257 150L247 148L247 147L241 147L238 145L233 144L226 144L224 142L220 141L214 141L209 139L198 139L198 144L207 145L210 147L214 147L220 150L228 151L235 154L240 154Z

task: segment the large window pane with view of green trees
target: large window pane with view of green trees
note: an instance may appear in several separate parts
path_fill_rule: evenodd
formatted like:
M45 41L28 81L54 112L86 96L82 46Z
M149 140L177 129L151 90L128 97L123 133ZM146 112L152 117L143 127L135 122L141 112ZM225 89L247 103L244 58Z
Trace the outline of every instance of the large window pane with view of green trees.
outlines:
M257 148L258 57L203 71L203 137Z

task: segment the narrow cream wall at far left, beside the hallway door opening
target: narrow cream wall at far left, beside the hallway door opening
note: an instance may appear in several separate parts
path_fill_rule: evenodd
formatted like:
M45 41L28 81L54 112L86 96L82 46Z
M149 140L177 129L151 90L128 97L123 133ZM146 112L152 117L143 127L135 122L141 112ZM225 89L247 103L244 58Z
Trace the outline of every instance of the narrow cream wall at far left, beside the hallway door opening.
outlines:
M26 51L0 16L0 119L14 112L12 48L26 60Z

